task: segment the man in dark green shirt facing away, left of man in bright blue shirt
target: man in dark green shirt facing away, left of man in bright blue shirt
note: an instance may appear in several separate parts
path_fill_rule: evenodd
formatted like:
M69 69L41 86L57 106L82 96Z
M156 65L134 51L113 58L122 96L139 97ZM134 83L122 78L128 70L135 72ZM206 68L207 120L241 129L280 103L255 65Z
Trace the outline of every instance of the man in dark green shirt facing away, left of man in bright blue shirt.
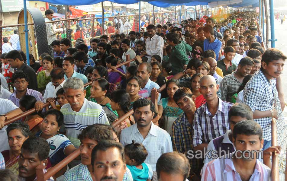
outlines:
M169 62L172 66L172 74L175 75L183 71L183 66L187 66L189 59L186 52L192 51L192 47L183 41L179 41L177 33L166 35L167 43L172 46Z

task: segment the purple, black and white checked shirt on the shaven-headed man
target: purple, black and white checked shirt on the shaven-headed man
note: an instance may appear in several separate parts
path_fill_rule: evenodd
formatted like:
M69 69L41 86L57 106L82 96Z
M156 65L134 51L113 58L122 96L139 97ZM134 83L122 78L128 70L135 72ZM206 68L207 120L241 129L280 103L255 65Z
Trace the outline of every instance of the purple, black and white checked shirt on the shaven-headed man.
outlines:
M193 147L209 143L229 129L228 111L233 104L218 98L218 108L214 116L209 112L207 104L206 102L200 106L194 114Z

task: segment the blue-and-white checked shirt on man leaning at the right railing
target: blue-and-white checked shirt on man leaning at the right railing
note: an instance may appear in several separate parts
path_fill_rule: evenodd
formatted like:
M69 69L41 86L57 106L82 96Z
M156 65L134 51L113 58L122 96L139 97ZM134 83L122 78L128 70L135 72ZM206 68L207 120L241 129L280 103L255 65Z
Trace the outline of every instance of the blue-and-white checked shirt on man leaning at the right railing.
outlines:
M268 80L261 70L254 73L247 82L243 90L243 103L247 104L251 110L266 111L272 110L274 96L277 95L276 79ZM254 119L263 130L263 139L271 140L272 117Z

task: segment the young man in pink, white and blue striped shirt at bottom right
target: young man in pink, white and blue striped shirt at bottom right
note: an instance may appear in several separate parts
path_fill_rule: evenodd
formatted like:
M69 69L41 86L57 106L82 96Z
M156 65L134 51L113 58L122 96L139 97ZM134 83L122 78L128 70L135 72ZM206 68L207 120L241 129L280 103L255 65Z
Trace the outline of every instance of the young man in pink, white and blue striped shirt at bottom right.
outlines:
M265 164L256 159L257 151L263 147L262 132L260 125L252 120L238 122L234 126L232 138L237 152L205 164L202 168L202 178L214 181L271 180L270 156L273 152L280 154L281 148L276 146L264 150ZM242 154L243 151L247 152Z

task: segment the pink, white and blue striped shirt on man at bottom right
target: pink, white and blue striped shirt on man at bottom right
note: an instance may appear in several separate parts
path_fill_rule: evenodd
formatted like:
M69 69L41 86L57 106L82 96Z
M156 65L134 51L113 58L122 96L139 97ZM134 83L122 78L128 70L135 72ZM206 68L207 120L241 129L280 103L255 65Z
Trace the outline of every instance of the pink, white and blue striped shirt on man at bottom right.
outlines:
M241 181L239 173L235 170L231 156L235 152L230 154L230 158L217 158L211 162L205 164L202 168L201 180L212 181ZM253 174L249 181L270 181L271 169L264 165L259 160L256 160Z

